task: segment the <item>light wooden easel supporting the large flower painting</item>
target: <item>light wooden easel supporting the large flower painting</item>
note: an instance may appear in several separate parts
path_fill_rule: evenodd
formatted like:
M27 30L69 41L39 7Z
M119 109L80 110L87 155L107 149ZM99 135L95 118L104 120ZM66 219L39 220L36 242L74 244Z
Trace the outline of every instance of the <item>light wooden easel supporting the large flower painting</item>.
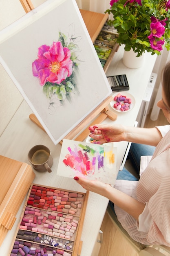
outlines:
M20 2L26 13L34 9L31 0L20 0ZM87 117L85 117L85 119L82 122L80 122L71 132L69 132L68 135L64 137L64 139L74 139L77 141L83 141L89 135L89 130L88 130L88 127L85 128L86 126L93 126L94 124L99 124L102 121L104 121L107 117L115 121L117 119L117 115L111 110L109 110L108 108L108 104L112 100L113 100L113 97L111 96L107 97L99 106L97 106L97 108L95 108L95 110L93 110ZM95 117L97 118L95 119ZM44 130L44 128L42 127L42 125L40 124L40 122L38 121L37 117L35 117L34 114L31 114L29 118L38 127ZM92 121L93 119L95 120ZM79 132L81 133L79 134ZM77 134L79 135L77 136ZM62 144L62 141L60 141L60 144Z

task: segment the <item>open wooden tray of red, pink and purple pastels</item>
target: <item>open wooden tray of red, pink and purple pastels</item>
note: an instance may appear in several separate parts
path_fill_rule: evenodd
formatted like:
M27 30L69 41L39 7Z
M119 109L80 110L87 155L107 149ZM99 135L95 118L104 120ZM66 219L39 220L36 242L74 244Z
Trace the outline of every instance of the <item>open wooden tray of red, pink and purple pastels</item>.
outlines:
M32 184L9 255L80 255L87 197Z

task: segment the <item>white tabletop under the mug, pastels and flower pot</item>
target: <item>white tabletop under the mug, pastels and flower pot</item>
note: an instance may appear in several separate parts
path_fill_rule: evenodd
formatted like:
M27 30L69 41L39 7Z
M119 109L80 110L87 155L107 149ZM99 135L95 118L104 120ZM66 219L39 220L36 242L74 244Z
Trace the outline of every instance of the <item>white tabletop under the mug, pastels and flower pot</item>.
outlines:
M113 61L108 68L107 75L126 74L130 86L130 90L128 92L135 97L136 103L135 107L129 112L117 113L118 117L114 123L133 126L150 78L150 74L155 64L156 56L151 56L150 54L146 53L144 66L139 69L132 70L123 65L122 55L123 48L119 47L118 52L115 54ZM56 188L85 192L84 189L82 189L82 187L75 182L75 180L56 175L61 145L57 144L55 146L49 136L43 130L38 128L38 126L36 126L32 121L30 121L29 115L31 113L31 109L27 103L23 101L0 137L0 155L10 157L20 162L29 163L27 160L27 153L29 149L36 144L44 144L50 148L51 155L53 156L54 163L52 166L52 173L38 173L35 171L36 177L34 183L42 184L44 186L53 186ZM104 122L113 121L106 119ZM115 146L118 150L118 171L126 150L127 142L115 143ZM91 255L107 205L107 198L97 195L96 193L89 193L81 237L81 240L83 241L81 256ZM11 246L13 236L18 226L23 206L24 202L22 202L20 210L18 211L17 220L15 221L13 228L8 232L0 247L0 255L7 256L9 253L9 247Z

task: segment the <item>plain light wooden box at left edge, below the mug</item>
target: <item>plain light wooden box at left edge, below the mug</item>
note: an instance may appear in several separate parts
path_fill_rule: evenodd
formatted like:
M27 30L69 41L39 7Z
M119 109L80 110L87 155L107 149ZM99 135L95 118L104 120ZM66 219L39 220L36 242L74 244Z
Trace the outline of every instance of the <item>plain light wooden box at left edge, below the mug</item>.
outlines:
M35 178L29 164L0 155L0 246Z

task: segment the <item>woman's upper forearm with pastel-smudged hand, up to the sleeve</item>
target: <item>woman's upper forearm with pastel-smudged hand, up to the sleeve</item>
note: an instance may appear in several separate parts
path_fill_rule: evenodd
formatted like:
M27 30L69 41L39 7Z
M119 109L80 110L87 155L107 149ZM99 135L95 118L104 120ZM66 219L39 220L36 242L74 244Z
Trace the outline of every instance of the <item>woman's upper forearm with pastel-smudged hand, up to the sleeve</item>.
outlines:
M90 137L95 139L93 143L130 141L138 144L157 146L162 139L161 132L155 128L139 128L122 125L97 124L90 126Z

